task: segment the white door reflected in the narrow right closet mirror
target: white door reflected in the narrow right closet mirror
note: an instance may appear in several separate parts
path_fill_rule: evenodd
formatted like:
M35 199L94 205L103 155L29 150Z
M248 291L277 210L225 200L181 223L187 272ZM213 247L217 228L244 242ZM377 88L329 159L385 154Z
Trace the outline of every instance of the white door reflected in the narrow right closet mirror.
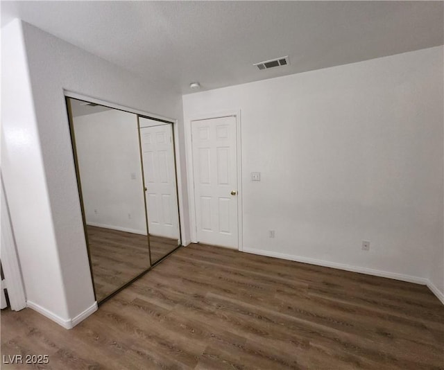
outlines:
M172 137L171 125L140 128L148 231L166 238L178 237Z

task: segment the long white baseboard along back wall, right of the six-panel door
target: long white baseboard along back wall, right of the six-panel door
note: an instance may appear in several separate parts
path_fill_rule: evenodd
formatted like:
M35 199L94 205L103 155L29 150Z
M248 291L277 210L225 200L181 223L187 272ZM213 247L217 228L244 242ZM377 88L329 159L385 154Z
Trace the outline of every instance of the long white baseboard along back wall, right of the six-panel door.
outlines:
M345 265L343 263L323 261L323 260L318 260L318 259L315 259L315 258L294 256L293 254L283 254L283 253L278 253L278 252L268 252L268 251L264 251L262 249L250 249L250 248L244 248L244 252L252 253L252 254L260 254L261 256L282 258L284 260L289 260L289 261L309 263L311 265L318 265L318 266L324 266L324 267L333 267L333 268L339 269L339 270L345 270L345 271L351 271L351 272L359 272L360 274L381 276L381 277L386 277L388 279L408 281L409 283L416 283L416 284L421 284L421 285L427 285L429 283L428 279L421 278L421 277L418 277L418 276L404 275L404 274L398 274L396 272L387 272L387 271L382 271L382 270L374 270L374 269L369 269L367 267Z

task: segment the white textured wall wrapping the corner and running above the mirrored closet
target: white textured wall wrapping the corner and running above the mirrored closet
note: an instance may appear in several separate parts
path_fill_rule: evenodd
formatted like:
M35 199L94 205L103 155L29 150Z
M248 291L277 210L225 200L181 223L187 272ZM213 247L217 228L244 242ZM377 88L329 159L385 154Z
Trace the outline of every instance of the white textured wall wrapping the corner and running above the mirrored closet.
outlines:
M2 31L2 171L27 299L69 327L94 296L63 89L171 118L180 96L19 20Z

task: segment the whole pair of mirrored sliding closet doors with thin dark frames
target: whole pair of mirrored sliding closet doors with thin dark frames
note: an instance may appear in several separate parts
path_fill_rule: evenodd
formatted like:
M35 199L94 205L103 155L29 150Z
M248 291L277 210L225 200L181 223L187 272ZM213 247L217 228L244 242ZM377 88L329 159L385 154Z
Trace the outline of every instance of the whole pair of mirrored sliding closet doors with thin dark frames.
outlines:
M180 245L172 124L74 98L67 108L100 302Z

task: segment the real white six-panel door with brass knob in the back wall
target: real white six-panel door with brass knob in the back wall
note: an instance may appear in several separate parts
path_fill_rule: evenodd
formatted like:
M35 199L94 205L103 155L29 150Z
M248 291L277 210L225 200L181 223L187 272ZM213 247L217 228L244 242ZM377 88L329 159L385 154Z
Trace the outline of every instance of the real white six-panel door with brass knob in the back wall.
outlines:
M238 248L234 116L191 122L197 240Z

